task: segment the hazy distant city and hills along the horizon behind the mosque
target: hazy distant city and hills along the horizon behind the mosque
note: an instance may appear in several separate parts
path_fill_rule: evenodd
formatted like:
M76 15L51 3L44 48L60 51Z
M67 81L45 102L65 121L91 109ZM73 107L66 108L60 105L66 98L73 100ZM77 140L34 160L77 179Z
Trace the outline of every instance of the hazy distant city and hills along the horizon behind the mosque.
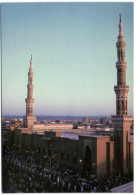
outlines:
M73 128L92 128L92 127L112 127L111 117L107 116L44 116L36 117L35 124L73 124ZM15 125L16 124L16 125ZM13 128L23 127L21 116L3 116L2 126L12 126Z

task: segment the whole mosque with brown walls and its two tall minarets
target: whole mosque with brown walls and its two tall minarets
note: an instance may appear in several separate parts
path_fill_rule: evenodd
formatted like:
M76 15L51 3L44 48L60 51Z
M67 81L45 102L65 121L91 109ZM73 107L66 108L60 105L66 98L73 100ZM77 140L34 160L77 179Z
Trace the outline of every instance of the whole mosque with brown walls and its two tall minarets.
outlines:
M130 126L133 117L128 115L128 92L126 85L126 67L124 35L121 15L117 47L117 85L116 115L112 116L113 136L78 133L72 124L34 124L33 116L33 68L32 57L28 72L26 116L24 128L14 130L14 144L20 150L40 152L50 159L51 166L87 170L93 175L103 176L113 173L133 174L133 141L130 137ZM52 131L51 131L52 129ZM38 134L43 131L44 134ZM58 136L58 131L69 132L70 137ZM35 133L34 133L35 132Z

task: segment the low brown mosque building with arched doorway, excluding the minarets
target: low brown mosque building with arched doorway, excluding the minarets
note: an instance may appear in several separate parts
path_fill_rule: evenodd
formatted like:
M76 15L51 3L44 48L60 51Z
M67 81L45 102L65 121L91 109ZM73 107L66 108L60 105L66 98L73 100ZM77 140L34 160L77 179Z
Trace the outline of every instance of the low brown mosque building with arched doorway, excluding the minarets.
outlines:
M45 135L37 135L32 134L31 130L28 132L27 128L22 128L15 129L14 143L20 146L21 150L38 150L51 159L56 154L52 163L59 167L87 170L97 176L114 171L113 142L110 143L110 136L90 136L86 133L75 133L74 136L74 133L70 133L69 137L58 137L56 132L46 131Z

